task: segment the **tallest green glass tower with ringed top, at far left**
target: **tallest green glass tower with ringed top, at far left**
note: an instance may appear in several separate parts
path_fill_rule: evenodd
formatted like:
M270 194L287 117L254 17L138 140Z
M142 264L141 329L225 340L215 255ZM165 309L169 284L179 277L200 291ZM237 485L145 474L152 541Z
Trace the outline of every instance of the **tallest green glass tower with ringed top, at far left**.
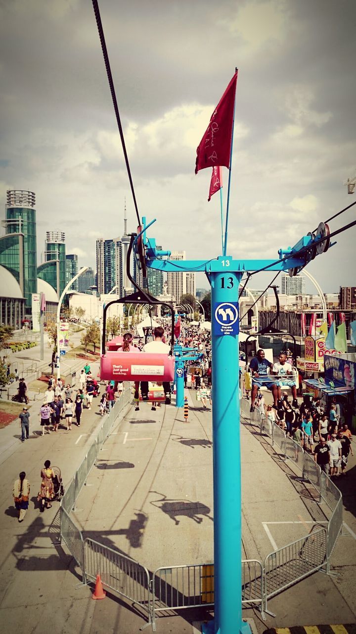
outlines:
M0 238L0 264L20 285L30 310L37 292L37 240L35 194L27 190L6 192L5 235Z

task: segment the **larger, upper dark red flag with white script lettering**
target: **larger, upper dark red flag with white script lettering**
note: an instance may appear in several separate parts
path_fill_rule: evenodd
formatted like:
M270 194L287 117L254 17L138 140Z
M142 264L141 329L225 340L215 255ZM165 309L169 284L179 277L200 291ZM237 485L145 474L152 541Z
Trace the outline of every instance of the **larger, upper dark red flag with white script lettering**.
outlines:
M195 173L205 167L224 165L230 167L232 124L238 71L232 77L229 86L222 95L210 118L200 144L196 148Z

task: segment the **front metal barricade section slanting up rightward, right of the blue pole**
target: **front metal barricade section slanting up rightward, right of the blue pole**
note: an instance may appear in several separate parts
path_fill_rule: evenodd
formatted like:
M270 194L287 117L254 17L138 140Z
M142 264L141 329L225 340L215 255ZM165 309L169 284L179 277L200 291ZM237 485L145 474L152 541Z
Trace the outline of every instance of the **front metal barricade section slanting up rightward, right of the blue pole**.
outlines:
M327 564L327 531L320 528L267 555L264 562L267 601Z

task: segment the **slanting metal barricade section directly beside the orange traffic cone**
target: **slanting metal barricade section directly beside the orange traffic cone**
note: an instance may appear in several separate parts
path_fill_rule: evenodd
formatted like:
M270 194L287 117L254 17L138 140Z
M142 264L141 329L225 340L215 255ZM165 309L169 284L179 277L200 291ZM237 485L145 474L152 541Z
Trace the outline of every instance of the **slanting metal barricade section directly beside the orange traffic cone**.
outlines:
M151 623L149 573L144 566L89 538L84 541L84 562L86 579L94 580L99 574L103 585L140 605Z

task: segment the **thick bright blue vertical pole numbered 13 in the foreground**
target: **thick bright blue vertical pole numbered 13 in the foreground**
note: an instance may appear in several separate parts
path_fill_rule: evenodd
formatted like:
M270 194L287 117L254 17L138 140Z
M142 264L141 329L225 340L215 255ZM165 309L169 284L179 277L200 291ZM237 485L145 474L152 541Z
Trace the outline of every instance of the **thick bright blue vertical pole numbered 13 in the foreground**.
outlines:
M220 258L219 258L220 259ZM226 262L223 261L223 262ZM240 273L211 273L214 479L214 621L203 632L250 632L242 620L239 338L214 333L219 304L238 302Z

